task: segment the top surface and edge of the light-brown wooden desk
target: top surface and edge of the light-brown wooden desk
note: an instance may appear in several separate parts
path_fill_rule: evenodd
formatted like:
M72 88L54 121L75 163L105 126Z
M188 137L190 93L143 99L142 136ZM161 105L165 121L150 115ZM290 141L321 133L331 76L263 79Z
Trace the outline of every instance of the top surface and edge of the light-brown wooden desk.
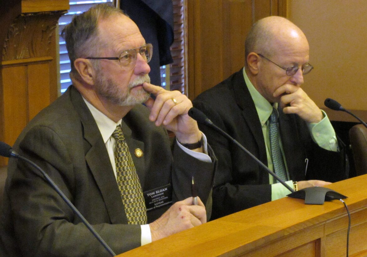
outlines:
M362 175L335 182L328 188L348 196L345 203L353 213L367 208L366 182L367 175ZM118 256L185 256L190 253L233 256L305 229L315 230L330 220L346 216L344 204L338 200L323 205L307 205L302 199L282 198L207 222ZM324 228L319 229L318 233L325 233Z

